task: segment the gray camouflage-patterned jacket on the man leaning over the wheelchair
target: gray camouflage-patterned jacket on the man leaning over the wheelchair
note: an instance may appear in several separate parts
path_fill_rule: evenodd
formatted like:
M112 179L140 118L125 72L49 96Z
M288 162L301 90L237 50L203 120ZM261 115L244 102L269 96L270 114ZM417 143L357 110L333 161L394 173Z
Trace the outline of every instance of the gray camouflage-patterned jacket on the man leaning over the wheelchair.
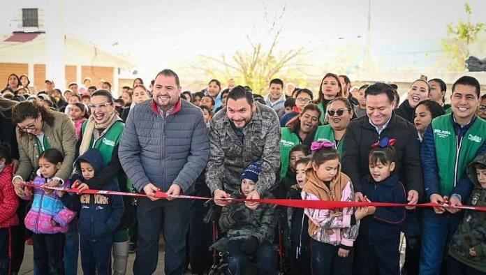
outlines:
M276 184L280 168L281 130L279 117L270 107L256 103L251 121L243 129L240 142L226 109L214 115L209 124L209 161L206 166L206 184L213 193L221 189L236 193L241 186L240 176L253 161L262 162L256 191L263 194Z

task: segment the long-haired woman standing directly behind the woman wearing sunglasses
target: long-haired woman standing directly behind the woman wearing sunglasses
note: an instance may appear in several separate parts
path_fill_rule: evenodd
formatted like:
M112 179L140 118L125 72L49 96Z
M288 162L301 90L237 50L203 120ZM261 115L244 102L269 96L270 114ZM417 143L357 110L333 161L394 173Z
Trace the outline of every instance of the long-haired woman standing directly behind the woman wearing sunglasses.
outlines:
M316 101L319 110L321 110L321 124L324 124L325 121L325 107L327 103L339 96L343 96L343 88L339 77L334 73L326 73L321 81L321 86L319 86L319 96Z

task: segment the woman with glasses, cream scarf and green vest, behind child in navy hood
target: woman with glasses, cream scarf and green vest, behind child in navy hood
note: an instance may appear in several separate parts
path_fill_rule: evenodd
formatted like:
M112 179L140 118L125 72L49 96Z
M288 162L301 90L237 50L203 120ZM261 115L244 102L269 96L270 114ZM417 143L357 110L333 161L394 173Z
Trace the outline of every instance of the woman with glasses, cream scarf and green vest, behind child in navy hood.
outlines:
M91 189L103 190L103 183L117 181L120 191L131 192L133 187L126 180L118 158L118 146L125 124L115 111L110 91L97 90L91 94L91 116L84 121L78 142L78 156L90 148L101 152L105 165L100 173L86 184ZM124 196L125 213L113 235L113 274L125 274L128 260L128 227L133 220L131 197Z

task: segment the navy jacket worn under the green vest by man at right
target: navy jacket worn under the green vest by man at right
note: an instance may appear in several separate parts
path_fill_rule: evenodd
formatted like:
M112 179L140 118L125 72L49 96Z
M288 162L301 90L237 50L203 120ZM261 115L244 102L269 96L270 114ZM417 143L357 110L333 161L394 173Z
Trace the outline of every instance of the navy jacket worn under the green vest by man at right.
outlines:
M451 116L453 120L453 116ZM466 134L469 127L476 121L477 117L474 116L471 122L461 127L455 121L452 121L452 126L454 126L454 131L457 137L461 137ZM425 182L425 194L427 195L427 201L430 195L437 193L440 194L441 190L439 187L439 168L437 167L436 158L436 148L435 148L434 133L432 131L432 124L427 127L425 135L422 139L422 147L420 151L420 158L422 159L422 170L424 172L424 182ZM486 143L476 152L476 157L486 153ZM451 161L452 158L451 158ZM452 194L460 195L462 198L462 203L467 201L469 194L473 191L473 183L471 179L464 172L462 176L457 181L456 186L452 189Z

